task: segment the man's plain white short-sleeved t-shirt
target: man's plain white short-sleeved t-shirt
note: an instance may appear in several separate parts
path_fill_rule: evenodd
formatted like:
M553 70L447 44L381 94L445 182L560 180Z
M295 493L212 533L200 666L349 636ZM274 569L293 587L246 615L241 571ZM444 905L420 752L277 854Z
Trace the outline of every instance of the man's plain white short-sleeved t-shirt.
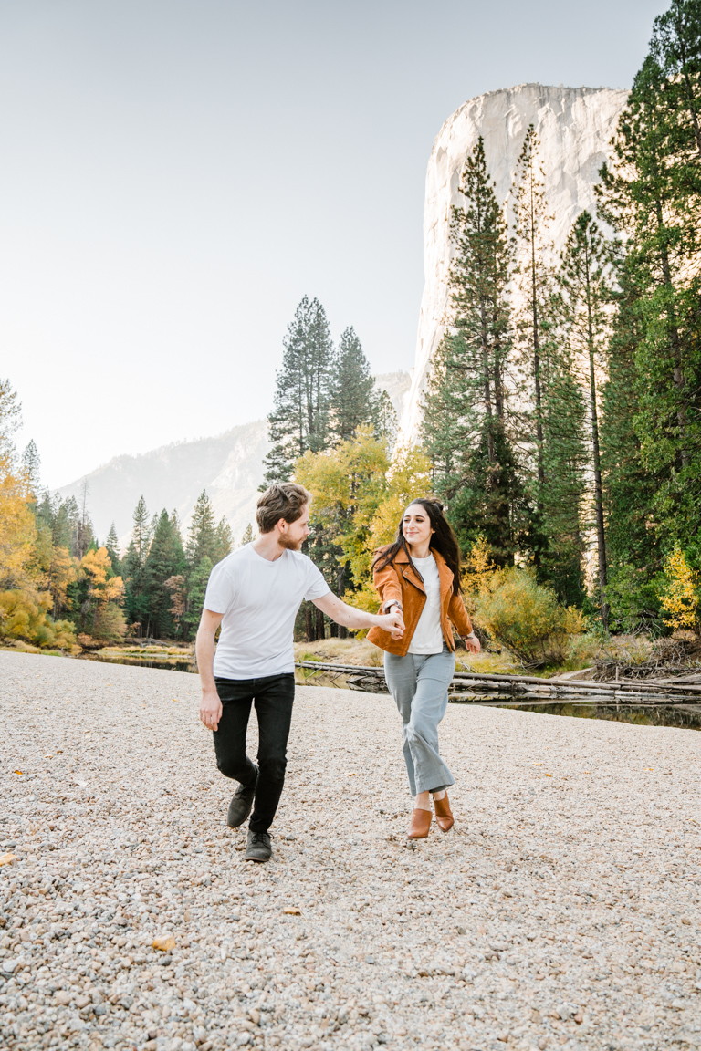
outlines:
M311 558L284 551L271 562L240 548L218 562L209 576L205 610L223 613L214 655L222 679L257 679L294 672L293 630L303 598L322 598L331 589Z

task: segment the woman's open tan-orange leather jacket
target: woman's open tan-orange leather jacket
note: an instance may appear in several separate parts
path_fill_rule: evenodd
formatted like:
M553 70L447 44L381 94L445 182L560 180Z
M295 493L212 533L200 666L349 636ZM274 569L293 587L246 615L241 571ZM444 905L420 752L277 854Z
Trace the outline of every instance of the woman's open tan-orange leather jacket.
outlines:
M375 558L387 548L375 552ZM431 551L438 566L440 580L440 627L450 650L455 650L451 621L455 624L458 635L470 635L472 623L465 609L461 595L453 594L453 572L446 559L437 551ZM379 612L385 613L388 603L399 602L404 613L405 632L400 639L393 639L389 632L382 627L371 627L368 638L380 650L397 657L404 657L409 652L412 636L416 631L418 618L426 604L426 591L420 577L409 561L406 551L399 550L390 562L382 570L373 572L373 581L380 598Z

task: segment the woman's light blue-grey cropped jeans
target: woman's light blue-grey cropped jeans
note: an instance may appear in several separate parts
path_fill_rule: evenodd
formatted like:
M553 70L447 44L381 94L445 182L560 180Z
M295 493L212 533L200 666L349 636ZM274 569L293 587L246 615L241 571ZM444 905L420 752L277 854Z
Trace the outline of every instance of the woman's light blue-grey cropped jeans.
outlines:
M438 751L438 723L446 715L454 673L455 654L445 642L439 654L385 654L385 679L401 716L412 796L455 784Z

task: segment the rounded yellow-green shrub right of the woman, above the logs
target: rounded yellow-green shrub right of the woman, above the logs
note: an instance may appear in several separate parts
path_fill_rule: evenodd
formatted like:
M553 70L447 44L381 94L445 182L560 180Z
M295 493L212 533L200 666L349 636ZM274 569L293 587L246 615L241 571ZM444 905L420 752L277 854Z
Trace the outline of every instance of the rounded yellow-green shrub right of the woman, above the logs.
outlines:
M495 573L491 590L475 596L475 620L528 667L562 662L570 637L584 631L580 611L561 606L530 569Z

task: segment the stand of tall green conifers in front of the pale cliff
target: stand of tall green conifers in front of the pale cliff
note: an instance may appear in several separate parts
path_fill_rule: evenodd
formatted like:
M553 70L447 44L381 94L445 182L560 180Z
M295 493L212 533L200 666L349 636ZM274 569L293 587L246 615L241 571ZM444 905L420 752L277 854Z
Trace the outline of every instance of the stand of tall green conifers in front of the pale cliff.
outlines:
M700 0L656 19L558 255L555 176L533 127L506 212L481 139L465 165L424 442L463 550L530 562L604 628L659 625L665 560L701 568Z

